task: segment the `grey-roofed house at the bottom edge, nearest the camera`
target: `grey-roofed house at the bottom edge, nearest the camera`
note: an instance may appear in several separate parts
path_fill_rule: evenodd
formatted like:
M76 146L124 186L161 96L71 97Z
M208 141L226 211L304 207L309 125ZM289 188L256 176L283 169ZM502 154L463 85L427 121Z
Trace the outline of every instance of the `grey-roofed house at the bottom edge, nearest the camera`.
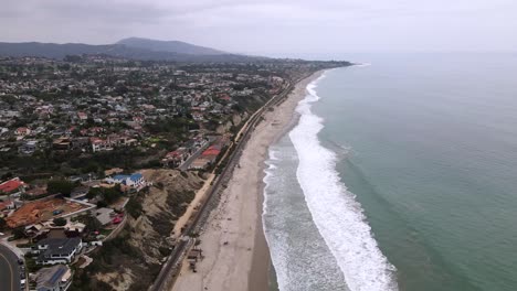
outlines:
M66 291L72 283L72 271L65 265L40 269L35 274L36 291Z

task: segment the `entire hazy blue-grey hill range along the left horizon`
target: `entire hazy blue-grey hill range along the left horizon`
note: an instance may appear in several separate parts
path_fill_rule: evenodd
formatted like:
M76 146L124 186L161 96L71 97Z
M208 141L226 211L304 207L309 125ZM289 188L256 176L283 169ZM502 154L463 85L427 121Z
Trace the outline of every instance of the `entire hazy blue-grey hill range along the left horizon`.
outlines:
M66 55L110 55L140 61L175 62L249 62L261 60L238 54L228 54L209 47L183 42L163 42L146 39L125 39L116 44L92 45L84 43L2 43L0 56L41 56L62 60Z

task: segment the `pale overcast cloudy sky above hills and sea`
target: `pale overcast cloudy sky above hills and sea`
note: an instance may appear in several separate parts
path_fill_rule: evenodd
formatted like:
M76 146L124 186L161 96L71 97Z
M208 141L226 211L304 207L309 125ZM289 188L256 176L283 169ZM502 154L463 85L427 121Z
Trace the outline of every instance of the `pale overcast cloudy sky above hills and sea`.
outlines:
M517 51L515 0L2 0L0 41L180 40L238 53Z

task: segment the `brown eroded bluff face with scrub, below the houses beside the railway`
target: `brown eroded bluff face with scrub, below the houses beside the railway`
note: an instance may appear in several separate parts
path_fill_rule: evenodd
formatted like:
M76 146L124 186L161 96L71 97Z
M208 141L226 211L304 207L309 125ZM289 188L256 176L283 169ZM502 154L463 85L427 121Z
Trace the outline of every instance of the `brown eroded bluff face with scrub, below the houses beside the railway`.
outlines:
M193 172L146 170L144 175L154 185L135 197L140 215L128 215L125 229L92 256L85 272L94 280L83 290L147 290L173 247L169 237L176 220L203 184Z

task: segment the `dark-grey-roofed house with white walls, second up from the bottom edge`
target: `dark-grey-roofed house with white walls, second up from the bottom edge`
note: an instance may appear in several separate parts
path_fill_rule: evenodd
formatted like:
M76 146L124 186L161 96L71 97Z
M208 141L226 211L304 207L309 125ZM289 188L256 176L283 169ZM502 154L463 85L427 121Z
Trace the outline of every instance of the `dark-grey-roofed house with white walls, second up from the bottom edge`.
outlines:
M83 241L78 237L73 238L45 238L33 247L33 254L39 254L38 265L71 263L75 255L83 248Z

